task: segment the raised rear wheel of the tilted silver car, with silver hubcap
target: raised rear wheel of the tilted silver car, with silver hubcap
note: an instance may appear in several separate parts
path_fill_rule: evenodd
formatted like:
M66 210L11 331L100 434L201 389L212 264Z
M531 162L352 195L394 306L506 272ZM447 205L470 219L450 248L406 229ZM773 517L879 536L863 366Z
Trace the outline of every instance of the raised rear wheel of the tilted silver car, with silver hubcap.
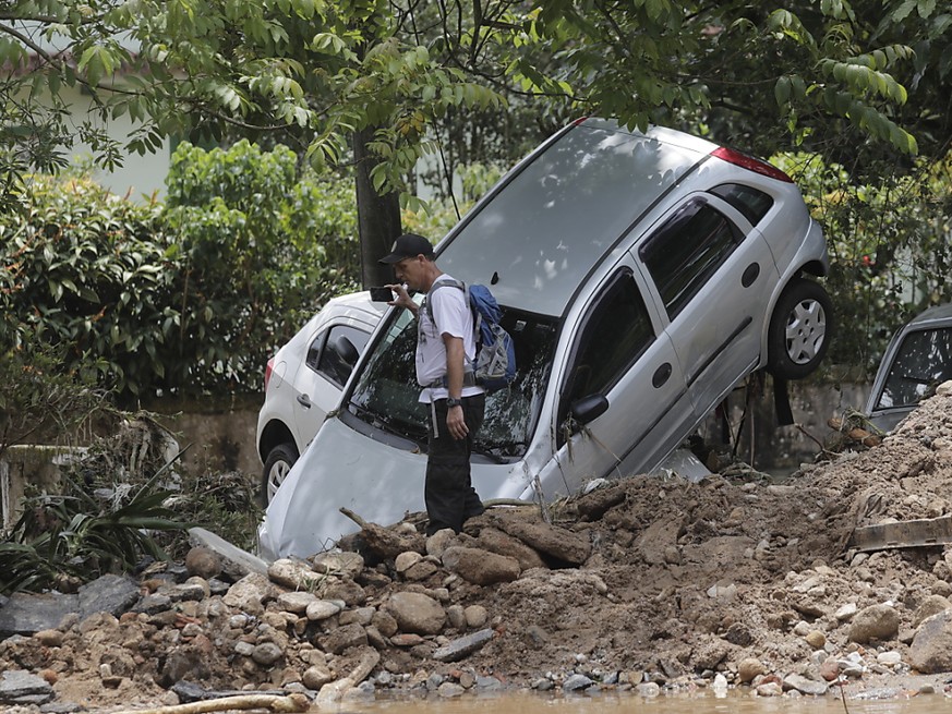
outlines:
M820 365L833 335L833 303L817 282L796 278L783 291L767 334L767 370L802 379Z

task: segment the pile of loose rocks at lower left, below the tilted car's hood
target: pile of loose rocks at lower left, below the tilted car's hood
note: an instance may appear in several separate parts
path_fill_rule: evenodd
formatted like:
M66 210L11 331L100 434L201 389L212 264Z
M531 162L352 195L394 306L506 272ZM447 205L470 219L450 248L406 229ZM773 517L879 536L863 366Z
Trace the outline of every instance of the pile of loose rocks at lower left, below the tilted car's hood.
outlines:
M498 689L499 679L450 666L501 626L482 605L460 602L546 567L543 555L578 565L590 546L517 513L491 520L547 552L492 527L484 541L451 531L424 541L405 525L394 538L418 549L374 567L348 552L267 565L197 546L184 564L157 564L137 580L106 576L76 594L17 593L0 603L0 703L176 701L167 690L182 680L324 699L418 686L443 695ZM443 666L421 680L427 661Z

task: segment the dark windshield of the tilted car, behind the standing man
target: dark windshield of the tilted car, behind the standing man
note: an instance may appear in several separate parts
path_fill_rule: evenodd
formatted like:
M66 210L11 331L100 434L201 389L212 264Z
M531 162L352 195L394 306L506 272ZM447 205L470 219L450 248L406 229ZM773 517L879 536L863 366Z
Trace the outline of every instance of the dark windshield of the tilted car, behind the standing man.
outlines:
M418 302L422 295L418 295ZM361 371L348 411L361 421L426 444L426 406L420 403L414 353L417 320L409 311L395 311L386 331ZM485 421L477 434L474 451L508 461L523 456L539 420L552 353L556 320L503 307L503 327L516 348L516 379L508 389L486 398Z

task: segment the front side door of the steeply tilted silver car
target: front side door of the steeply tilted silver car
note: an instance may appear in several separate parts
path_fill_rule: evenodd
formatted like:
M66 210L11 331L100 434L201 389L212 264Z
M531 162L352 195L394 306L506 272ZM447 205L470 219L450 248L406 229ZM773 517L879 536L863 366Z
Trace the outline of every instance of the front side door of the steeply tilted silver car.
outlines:
M643 290L626 254L589 304L569 316L575 328L556 417L556 460L569 488L653 468L694 420L677 355ZM580 423L579 406L600 398L604 413Z

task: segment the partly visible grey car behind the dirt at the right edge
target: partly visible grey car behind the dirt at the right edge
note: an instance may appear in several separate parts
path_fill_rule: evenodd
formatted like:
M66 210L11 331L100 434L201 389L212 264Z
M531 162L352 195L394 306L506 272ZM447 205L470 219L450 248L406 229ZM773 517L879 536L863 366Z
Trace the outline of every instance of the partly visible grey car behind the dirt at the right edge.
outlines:
M893 335L866 401L869 421L891 432L948 379L952 379L952 303L929 307Z

